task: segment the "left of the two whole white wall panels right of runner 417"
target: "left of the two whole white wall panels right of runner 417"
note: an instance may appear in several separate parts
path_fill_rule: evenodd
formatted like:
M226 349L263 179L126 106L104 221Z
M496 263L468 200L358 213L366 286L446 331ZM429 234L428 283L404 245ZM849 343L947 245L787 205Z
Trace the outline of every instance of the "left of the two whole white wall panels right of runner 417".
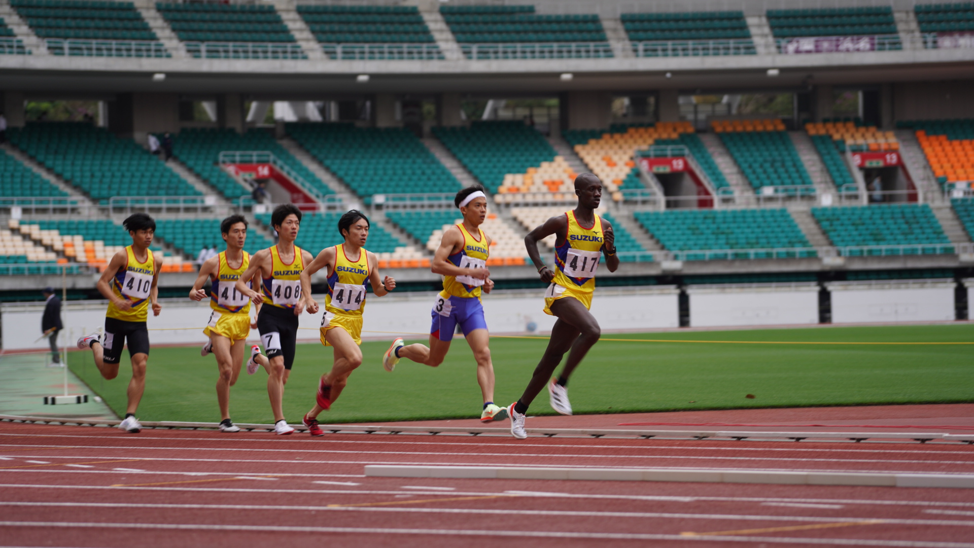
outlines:
M787 326L818 323L814 283L691 286L690 325Z

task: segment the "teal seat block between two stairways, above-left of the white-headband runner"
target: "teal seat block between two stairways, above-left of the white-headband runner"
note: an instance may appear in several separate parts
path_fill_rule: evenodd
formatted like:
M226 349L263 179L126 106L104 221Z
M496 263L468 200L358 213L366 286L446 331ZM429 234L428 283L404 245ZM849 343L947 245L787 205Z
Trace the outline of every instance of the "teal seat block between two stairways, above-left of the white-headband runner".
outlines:
M298 123L286 130L366 203L373 194L460 190L460 181L407 129Z

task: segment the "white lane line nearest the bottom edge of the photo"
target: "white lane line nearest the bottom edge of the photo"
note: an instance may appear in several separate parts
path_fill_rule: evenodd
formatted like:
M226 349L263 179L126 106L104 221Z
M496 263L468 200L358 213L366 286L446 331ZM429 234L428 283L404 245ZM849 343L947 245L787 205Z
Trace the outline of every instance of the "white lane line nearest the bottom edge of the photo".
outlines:
M897 548L974 548L970 542L931 542L924 540L880 540L870 538L807 538L782 536L689 536L639 532L583 532L561 530L498 530L498 529L442 529L442 528L328 528L294 526L223 526L215 524L142 524L88 522L0 522L0 527L19 528L131 528L162 530L227 530L260 532L314 532L351 534L416 534L445 536L498 536L529 538L587 538L600 540L709 540L715 542L767 542L780 544L818 544L831 546L892 546Z

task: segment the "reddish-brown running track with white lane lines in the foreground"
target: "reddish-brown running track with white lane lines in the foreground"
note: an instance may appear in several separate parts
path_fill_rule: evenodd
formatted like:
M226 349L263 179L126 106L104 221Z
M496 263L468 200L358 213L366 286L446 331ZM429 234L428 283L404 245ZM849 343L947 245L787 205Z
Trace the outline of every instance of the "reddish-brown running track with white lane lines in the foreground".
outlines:
M974 473L960 444L0 423L3 546L974 548L972 489L366 478L365 464ZM694 534L687 534L694 533Z

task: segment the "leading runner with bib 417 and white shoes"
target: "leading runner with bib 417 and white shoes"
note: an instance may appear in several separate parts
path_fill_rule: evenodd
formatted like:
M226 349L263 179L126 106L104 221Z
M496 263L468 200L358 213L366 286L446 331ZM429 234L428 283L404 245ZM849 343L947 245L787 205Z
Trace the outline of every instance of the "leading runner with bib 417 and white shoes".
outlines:
M581 174L575 179L575 194L579 197L579 206L575 210L547 219L524 237L524 245L542 281L550 283L544 292L544 313L556 316L558 321L551 328L547 349L524 394L507 408L510 433L518 439L528 437L524 430L524 415L545 384L554 411L572 414L568 378L601 334L599 323L588 310L592 306L595 271L602 254L606 255L610 272L618 268L612 224L595 215L602 200L602 181L592 174ZM538 241L551 234L555 234L554 272L538 253ZM551 373L570 348L565 369L557 378L551 378Z

